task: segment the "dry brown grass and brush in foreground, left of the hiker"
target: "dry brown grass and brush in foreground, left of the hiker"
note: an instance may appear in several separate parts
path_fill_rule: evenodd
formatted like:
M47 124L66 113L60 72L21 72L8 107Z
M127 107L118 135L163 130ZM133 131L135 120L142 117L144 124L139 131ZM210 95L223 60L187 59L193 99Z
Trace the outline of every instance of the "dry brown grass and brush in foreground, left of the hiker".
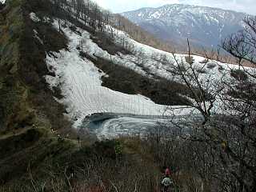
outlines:
M126 153L124 142L106 140L73 152L63 149L68 145L65 140L46 145L52 151L40 166L31 160L22 177L10 182L6 178L0 191L158 191L158 169L143 157ZM57 149L62 154L54 152Z

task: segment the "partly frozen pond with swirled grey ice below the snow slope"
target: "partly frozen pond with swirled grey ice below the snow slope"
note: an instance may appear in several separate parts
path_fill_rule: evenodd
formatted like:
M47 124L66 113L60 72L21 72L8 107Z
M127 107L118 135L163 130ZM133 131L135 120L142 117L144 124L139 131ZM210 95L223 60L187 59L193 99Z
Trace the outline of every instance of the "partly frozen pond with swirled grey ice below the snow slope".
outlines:
M180 121L184 116L178 116L173 121ZM176 119L176 120L175 120ZM150 115L132 115L132 114L93 114L82 122L81 128L89 130L90 134L95 134L99 139L117 138L118 136L140 135L149 133L155 127L162 128L165 125L174 128L170 122L170 117L150 116ZM188 129L184 129L188 131Z

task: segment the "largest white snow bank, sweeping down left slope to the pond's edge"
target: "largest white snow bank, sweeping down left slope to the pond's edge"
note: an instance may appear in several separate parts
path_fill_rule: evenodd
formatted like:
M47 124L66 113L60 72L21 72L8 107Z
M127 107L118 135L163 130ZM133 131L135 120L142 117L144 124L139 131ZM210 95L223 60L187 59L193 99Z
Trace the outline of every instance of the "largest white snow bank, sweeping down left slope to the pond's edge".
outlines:
M58 22L54 22L58 29ZM60 86L64 98L62 102L68 107L68 113L76 119L74 126L78 126L87 115L102 112L162 115L167 106L157 105L149 98L142 95L122 94L102 86L101 77L105 75L98 70L94 63L79 56L76 49L80 40L86 39L86 47L91 55L100 54L101 57L110 57L106 51L99 48L90 40L90 34L80 30L81 36L74 33L70 28L62 29L66 37L70 39L68 50L54 53L57 58L46 58L49 70L54 72L55 77L46 76L46 81L53 86ZM79 30L79 29L78 29ZM121 59L120 59L121 60ZM178 110L183 113L185 110ZM189 113L189 110L186 110Z

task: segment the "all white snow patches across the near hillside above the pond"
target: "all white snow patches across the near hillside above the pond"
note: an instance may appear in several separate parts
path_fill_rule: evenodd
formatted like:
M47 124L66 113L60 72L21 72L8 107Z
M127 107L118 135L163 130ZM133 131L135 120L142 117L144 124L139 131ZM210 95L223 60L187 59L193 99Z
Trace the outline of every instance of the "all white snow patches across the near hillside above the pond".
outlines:
M37 22L36 15L30 14L31 19ZM56 30L58 30L58 21L53 23ZM71 25L70 23L68 25ZM59 100L62 104L67 106L69 117L74 120L74 127L82 124L83 119L94 113L116 113L116 114L137 114L137 115L151 115L162 116L170 114L198 114L198 111L192 110L190 107L184 106L162 106L158 105L142 95L123 94L118 91L110 90L102 86L102 76L107 75L102 73L93 62L86 58L79 56L77 47L80 42L84 43L84 50L90 57L104 58L114 62L114 64L126 66L139 74L152 78L150 74L156 74L159 77L181 82L178 77L170 73L170 69L174 63L174 55L162 50L154 49L153 47L143 45L135 42L129 38L127 34L120 30L114 30L115 43L122 45L124 40L132 46L133 54L115 54L110 55L106 50L102 50L97 44L90 39L90 33L86 30L77 28L79 33L70 30L70 27L62 30L66 37L69 38L68 50L61 50L59 53L48 54L46 63L50 72L54 72L55 76L46 76L46 81L50 87L58 86L62 90L64 98ZM113 32L110 26L106 27L106 33ZM36 34L36 32L35 32ZM36 37L36 36L35 36ZM36 37L37 38L37 37ZM39 38L40 39L40 38ZM39 41L38 39L38 41ZM54 54L54 57L53 55ZM154 57L153 57L154 55ZM162 55L166 57L169 65L163 65L159 62ZM185 54L175 54L178 61L185 61ZM194 63L199 68L204 66L202 64L205 58L193 56ZM143 60L143 62L140 62ZM139 65L138 65L138 62ZM214 62L214 61L213 61ZM224 77L222 71L218 70L221 66L223 70L230 68L236 69L238 66L229 65L226 63L214 62L216 66L207 68L206 73L202 73L200 81L216 83L219 78L230 79ZM150 71L150 74L149 74ZM57 98L56 98L57 99ZM221 99L218 102L221 106ZM168 108L173 110L166 110Z

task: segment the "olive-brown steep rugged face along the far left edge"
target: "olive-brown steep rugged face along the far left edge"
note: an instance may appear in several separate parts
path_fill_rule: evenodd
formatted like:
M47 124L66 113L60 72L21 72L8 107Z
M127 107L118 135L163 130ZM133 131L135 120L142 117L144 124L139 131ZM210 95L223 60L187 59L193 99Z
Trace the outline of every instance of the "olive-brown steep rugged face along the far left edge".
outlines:
M22 6L19 1L7 3L1 12L0 26L0 132L32 126L35 111L29 101L29 87L23 82L21 43L26 38L22 20ZM21 32L22 31L22 32ZM24 56L25 57L25 56Z

